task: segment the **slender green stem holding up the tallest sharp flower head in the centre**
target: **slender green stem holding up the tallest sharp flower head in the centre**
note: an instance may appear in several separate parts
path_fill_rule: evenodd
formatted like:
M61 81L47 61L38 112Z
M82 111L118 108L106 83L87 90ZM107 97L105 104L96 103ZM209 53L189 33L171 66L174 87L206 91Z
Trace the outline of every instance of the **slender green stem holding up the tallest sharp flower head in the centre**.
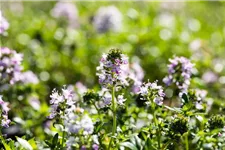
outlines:
M112 87L112 111L113 111L113 128L112 128L112 137L109 142L108 150L110 150L112 142L113 142L113 136L116 133L116 102L115 102L115 87Z

